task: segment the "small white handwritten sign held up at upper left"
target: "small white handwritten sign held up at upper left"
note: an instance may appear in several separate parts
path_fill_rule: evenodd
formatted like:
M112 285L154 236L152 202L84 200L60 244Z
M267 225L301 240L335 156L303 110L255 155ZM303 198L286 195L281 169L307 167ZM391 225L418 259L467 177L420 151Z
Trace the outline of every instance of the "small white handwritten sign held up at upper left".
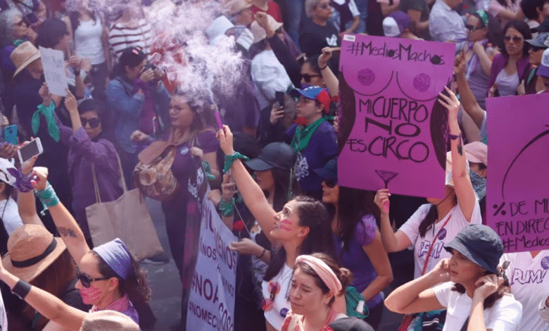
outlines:
M68 85L63 51L46 49L42 46L39 49L49 92L58 96L66 96Z

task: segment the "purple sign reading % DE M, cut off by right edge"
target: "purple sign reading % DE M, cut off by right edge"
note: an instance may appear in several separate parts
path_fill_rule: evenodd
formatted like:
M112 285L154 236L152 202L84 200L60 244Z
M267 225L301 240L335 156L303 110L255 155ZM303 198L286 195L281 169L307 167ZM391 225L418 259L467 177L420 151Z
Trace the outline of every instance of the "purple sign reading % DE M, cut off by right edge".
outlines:
M549 248L549 94L486 99L486 218L505 251Z

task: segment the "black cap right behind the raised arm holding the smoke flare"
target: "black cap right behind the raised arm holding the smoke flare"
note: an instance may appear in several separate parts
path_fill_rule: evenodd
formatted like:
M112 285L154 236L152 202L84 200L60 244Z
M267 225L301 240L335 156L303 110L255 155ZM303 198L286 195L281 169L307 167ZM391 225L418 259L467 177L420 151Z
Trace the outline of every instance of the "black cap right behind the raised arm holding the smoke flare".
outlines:
M290 170L296 162L296 151L284 142L272 142L263 147L257 158L246 161L248 168L265 171L272 168Z

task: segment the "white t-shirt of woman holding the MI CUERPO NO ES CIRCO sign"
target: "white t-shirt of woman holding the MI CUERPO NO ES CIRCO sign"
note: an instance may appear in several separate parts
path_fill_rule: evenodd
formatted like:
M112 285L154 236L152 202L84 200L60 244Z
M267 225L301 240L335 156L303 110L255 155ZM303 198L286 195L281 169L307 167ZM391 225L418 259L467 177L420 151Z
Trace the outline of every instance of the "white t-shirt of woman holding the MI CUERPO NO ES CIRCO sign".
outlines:
M441 261L441 259L450 258L452 256L452 254L444 249L444 245L448 244L448 242L454 239L455 235L457 235L457 233L460 232L462 228L466 227L469 224L482 223L479 201L475 201L470 223L467 222L465 216L463 216L460 204L457 204L456 206L454 206L454 208L450 210L448 214L446 214L443 218L441 218L439 222L435 224L434 231L431 227L431 229L427 230L427 232L425 233L425 237L419 237L419 224L421 224L422 220L425 218L425 216L427 216L427 213L429 213L429 208L431 208L431 206L431 204L424 204L422 206L419 206L419 208L417 208L417 211L415 211L415 213L410 216L406 223L404 223L400 227L400 229L398 229L404 232L404 234L410 239L410 242L412 242L415 262L414 278L419 278L422 275L425 259L427 258L429 247L431 246L431 242L433 242L433 238L435 236L437 236L438 238L436 239L433 250L431 251L429 263L427 263L427 269L425 269L426 273L427 271L434 268L434 266L436 266L436 263L438 263L438 261ZM448 221L444 229L441 230L448 217L450 217L450 220ZM412 246L408 247L408 249L412 249Z

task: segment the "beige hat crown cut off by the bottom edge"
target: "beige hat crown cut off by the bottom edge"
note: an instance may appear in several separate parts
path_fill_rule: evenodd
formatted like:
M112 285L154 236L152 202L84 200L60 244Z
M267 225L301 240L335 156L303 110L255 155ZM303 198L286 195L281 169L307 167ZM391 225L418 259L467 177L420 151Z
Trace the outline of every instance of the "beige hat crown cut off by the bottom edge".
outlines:
M139 331L139 325L118 311L96 311L87 314L80 331Z

